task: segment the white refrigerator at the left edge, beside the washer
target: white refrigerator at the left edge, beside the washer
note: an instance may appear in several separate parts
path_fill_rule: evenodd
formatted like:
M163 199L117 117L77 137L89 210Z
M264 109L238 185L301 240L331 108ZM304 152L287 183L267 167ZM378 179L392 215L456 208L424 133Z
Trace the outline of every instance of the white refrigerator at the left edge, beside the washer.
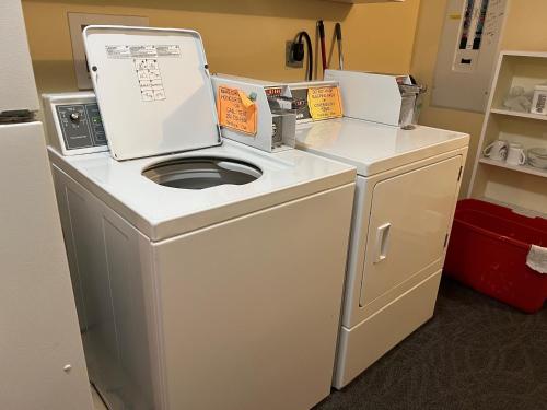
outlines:
M20 0L0 1L0 409L91 391Z

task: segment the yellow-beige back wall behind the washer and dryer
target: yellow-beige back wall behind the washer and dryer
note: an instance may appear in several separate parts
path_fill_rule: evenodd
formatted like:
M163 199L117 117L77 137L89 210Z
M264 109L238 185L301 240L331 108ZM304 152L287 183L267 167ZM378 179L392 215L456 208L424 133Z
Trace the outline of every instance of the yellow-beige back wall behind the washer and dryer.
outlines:
M324 19L327 51L334 23L342 23L346 68L410 68L420 0L349 5L321 0L23 0L28 42L40 92L75 90L67 12L144 15L151 26L201 33L212 72L271 80L303 79L284 67L284 42ZM333 55L331 67L338 57Z

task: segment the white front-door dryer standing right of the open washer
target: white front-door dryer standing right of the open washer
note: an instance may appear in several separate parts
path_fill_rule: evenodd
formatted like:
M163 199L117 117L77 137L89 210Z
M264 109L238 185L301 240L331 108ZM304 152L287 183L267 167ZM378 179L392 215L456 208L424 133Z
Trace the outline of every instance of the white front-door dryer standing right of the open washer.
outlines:
M351 118L298 126L298 148L358 169L336 388L433 315L468 141Z

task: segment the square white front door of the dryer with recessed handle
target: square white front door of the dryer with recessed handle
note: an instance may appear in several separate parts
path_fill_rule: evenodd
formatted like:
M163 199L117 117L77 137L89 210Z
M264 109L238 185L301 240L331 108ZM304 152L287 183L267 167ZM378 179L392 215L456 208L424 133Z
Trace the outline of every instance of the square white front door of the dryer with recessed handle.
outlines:
M458 155L374 186L361 306L443 257L461 166Z

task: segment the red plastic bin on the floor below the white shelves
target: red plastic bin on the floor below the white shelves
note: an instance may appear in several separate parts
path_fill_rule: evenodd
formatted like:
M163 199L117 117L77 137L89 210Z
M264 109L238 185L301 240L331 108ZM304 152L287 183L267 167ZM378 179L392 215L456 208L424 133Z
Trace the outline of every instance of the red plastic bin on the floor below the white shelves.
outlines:
M532 245L547 247L547 220L475 199L458 202L444 273L527 313L547 300L547 274L526 265Z

